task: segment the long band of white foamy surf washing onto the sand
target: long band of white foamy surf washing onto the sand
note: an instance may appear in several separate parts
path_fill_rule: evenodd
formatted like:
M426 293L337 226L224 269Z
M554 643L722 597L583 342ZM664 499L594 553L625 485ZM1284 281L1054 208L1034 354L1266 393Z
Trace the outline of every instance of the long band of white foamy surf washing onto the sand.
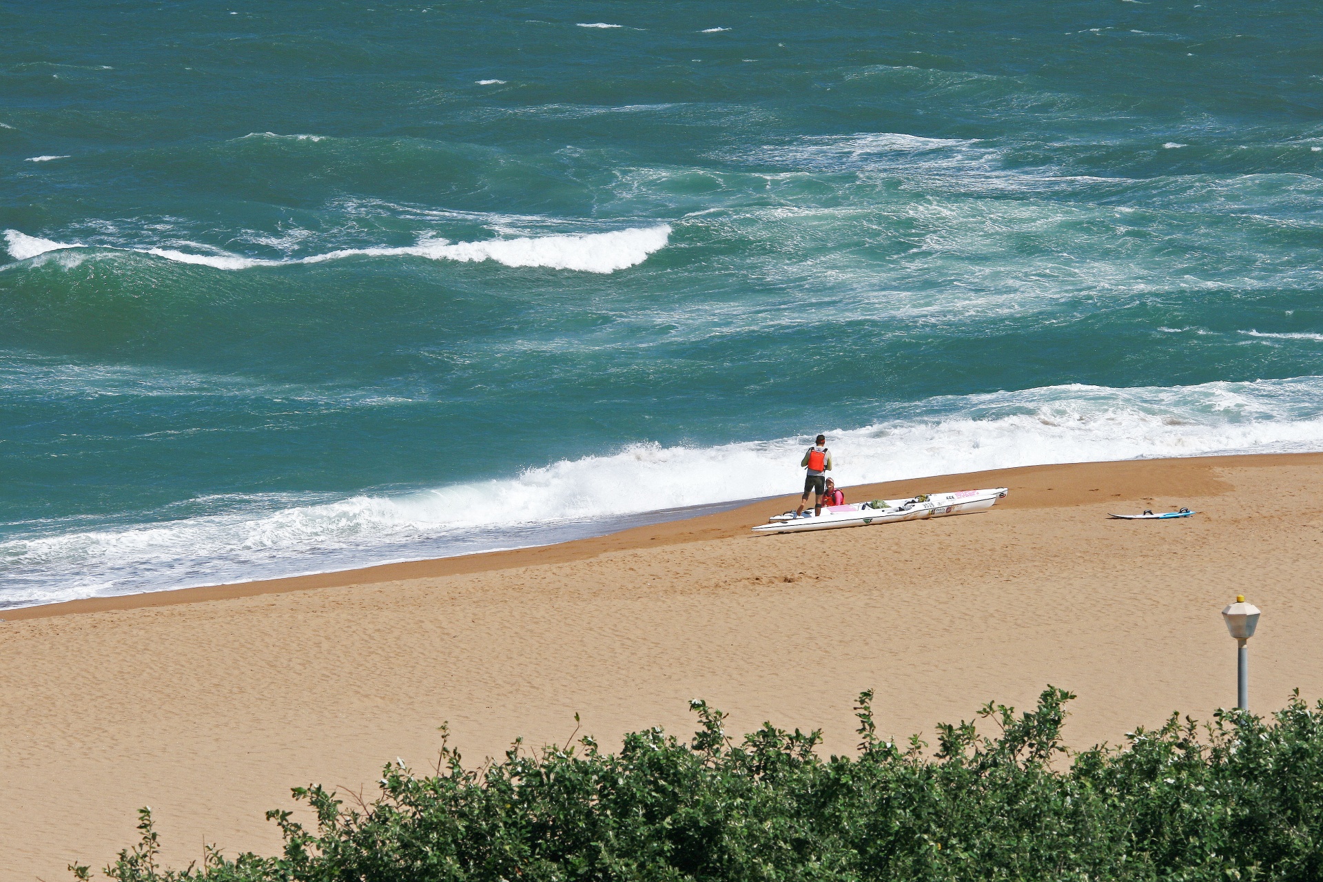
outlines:
M1323 450L1323 377L1199 386L1050 386L942 397L828 430L853 484L1043 463ZM814 427L816 431L818 427ZM714 447L635 444L501 480L396 496L230 499L217 513L0 542L15 586L42 602L549 541L549 525L799 489L808 435ZM963 489L934 481L934 491ZM848 489L847 489L848 495ZM303 501L304 504L299 504ZM191 502L206 509L205 500ZM586 529L586 528L585 528ZM486 546L475 546L479 537ZM466 545L467 542L467 545Z

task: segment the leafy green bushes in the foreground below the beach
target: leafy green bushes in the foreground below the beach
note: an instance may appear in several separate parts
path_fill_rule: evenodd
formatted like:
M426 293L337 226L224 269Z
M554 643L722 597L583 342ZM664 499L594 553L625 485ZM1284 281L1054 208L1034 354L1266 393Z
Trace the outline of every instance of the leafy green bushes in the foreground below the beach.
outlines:
M267 812L284 834L279 857L210 850L201 866L163 870L143 809L142 842L105 871L119 882L1323 879L1323 702L1297 694L1271 721L1218 711L1203 729L1174 715L1125 747L1068 755L1073 697L1049 686L1020 715L990 703L980 715L996 737L943 725L935 752L917 737L880 741L872 693L856 709L853 758L823 759L819 733L770 725L734 743L704 702L691 742L650 729L618 754L591 738L532 755L516 743L466 770L443 739L434 775L388 766L370 805L295 789L318 829Z

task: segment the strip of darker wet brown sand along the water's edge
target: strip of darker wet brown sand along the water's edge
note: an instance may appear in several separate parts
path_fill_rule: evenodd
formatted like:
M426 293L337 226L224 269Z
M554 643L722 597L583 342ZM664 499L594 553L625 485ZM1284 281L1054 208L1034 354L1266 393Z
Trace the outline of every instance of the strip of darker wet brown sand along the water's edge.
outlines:
M958 472L953 475L912 477L877 484L859 484L853 487L844 487L843 489L845 491L845 499L848 501L859 501L867 499L900 499L926 492L1008 487L1011 491L1008 497L996 504L998 510L1004 510L1008 508L1077 505L1090 501L1085 497L1080 497L1078 493L1068 497L1065 491L1060 497L1048 500L1045 493L1056 491L1053 488L1040 487L1040 483L1032 480L1031 476L1041 477L1043 473L1050 473L1052 471L1069 471L1077 468L1114 471L1118 476L1125 475L1127 489L1130 489L1129 483L1136 476L1146 472L1156 473L1166 471L1166 467L1152 467L1146 464L1185 463L1199 469L1213 464L1224 467L1271 467L1291 461L1323 463L1323 452L1228 454L1221 456L1180 456L1019 465L1015 468L999 468L982 472ZM1125 468L1127 465L1132 468ZM1016 480L1021 481L1020 487L1013 485ZM957 487L957 484L960 485ZM1166 483L1163 483L1163 487L1166 488ZM1031 493L1029 500L1021 499L1025 491ZM1151 488L1150 491L1158 492ZM1102 492L1101 488L1098 492ZM1185 492L1189 493L1192 491L1187 489ZM267 594L287 594L291 591L315 591L319 588L335 588L355 584L380 584L384 582L400 582L407 579L470 575L545 563L568 563L595 558L609 551L662 547L716 538L734 538L747 533L747 528L766 522L770 514L783 512L786 510L786 506L794 508L798 502L799 496L791 493L786 496L750 500L742 504L729 502L732 508L712 514L681 517L673 521L659 521L656 524L631 526L614 533L605 533L602 536L552 542L549 545L533 545L500 551L479 551L475 554L459 554L443 558L401 561L396 563L377 563L365 567L331 570L327 573L314 573L307 575L254 579L251 582L233 582L189 588L165 588L160 591L140 591L103 598L60 600L56 603L44 603L30 607L13 607L9 610L0 610L0 621L24 621L87 612L107 612L112 610L143 610L175 606L180 603L206 603L209 600L230 600L238 598L262 596ZM714 502L713 505L724 504ZM741 526L744 526L744 529L741 529Z

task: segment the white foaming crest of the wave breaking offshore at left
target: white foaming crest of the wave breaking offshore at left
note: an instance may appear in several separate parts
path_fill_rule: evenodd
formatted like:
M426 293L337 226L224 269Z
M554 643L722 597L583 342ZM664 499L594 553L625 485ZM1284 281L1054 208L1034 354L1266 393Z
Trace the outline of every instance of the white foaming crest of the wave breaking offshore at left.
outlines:
M136 251L173 261L209 266L216 270L247 270L251 267L286 266L295 263L324 263L349 257L421 257L431 261L456 261L474 263L493 261L509 267L546 267L552 270L576 270L579 272L615 272L646 261L650 254L665 247L671 237L671 226L630 227L607 233L579 233L562 235L521 235L515 238L484 239L480 242L450 242L447 239L419 239L417 245L397 247L340 249L327 254L314 254L306 258L271 261L247 258L238 254L214 250L213 254L196 254L179 249L112 249L116 251ZM85 247L66 242L41 239L19 230L5 230L9 254L16 261L25 261L57 249ZM196 246L202 247L202 246Z

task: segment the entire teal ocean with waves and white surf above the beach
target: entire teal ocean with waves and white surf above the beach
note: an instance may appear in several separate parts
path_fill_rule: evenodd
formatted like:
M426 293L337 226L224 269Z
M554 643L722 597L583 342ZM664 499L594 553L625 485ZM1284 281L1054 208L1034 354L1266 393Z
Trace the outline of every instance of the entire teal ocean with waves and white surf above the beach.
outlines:
M0 25L0 607L1323 450L1304 0Z

